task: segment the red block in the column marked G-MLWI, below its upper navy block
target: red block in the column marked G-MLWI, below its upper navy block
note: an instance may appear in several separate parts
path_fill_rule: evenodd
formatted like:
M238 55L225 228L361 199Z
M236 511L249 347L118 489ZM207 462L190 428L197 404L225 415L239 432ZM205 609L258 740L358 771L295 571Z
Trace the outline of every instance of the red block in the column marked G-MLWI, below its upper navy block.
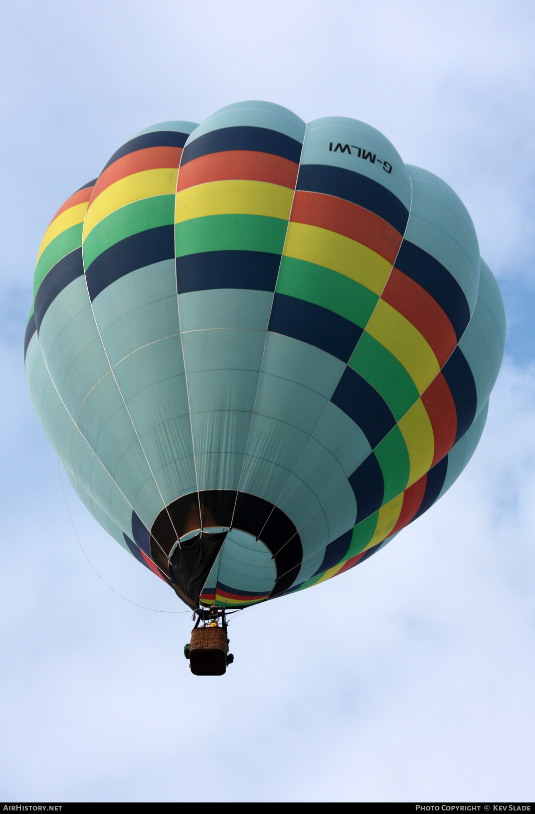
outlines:
M334 195L296 191L290 220L344 234L346 238L367 246L389 263L396 260L401 246L401 234L382 217Z

